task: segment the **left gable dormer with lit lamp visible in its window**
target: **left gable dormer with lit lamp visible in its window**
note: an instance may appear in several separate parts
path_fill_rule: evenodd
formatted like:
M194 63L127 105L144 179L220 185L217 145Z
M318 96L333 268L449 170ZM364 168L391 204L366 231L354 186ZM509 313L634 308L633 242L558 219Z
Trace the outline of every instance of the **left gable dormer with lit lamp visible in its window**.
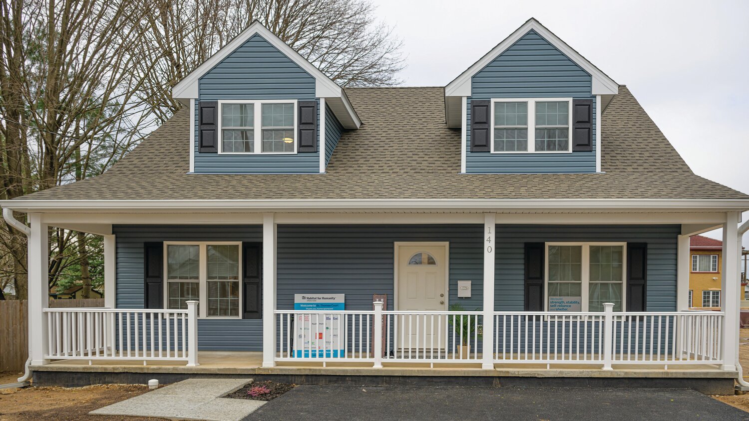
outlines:
M255 21L175 85L191 173L324 173L361 122L345 92Z

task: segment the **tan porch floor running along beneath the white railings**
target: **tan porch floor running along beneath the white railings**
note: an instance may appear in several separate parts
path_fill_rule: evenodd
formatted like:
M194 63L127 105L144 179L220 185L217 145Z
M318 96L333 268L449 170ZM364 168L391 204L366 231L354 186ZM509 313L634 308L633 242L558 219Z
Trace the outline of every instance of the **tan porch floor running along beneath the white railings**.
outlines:
M570 377L570 378L736 378L736 371L721 370L712 364L613 365L603 370L591 364L494 364L494 369L482 369L480 363L387 363L383 368L372 368L372 363L288 363L263 368L259 351L199 351L199 366L188 367L184 361L165 362L142 360L55 360L43 366L32 366L34 371L54 372L154 372L181 374L231 375L405 375L405 376L483 376L483 377Z

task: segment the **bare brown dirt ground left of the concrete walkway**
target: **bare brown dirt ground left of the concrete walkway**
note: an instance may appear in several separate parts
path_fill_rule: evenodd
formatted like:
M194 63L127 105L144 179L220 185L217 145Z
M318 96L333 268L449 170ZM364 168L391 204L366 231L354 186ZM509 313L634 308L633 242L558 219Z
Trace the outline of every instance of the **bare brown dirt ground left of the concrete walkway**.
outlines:
M5 374L5 373L2 373ZM7 376L6 376L7 377ZM17 377L17 376L16 376ZM0 377L4 379L4 377ZM7 379L6 379L7 380ZM15 377L12 381L15 381ZM5 381L4 383L7 383ZM87 387L27 387L0 389L0 421L154 421L158 418L102 417L89 411L148 392L142 384L104 384Z

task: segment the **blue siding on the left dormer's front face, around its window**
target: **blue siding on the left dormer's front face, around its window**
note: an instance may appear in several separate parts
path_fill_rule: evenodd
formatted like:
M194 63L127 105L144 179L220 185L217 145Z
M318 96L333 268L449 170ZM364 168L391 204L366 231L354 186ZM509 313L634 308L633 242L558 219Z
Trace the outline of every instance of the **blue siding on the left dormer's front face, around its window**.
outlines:
M195 173L319 173L319 152L294 155L198 152L200 100L316 99L315 78L260 35L251 37L204 74L198 83L198 96L195 101ZM318 151L319 121L318 106Z

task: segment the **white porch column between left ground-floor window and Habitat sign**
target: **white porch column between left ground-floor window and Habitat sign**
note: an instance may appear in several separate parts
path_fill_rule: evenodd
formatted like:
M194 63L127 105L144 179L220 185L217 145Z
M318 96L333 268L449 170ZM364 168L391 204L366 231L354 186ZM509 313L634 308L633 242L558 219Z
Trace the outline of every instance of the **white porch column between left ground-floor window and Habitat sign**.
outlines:
M263 214L263 366L276 366L276 221Z

